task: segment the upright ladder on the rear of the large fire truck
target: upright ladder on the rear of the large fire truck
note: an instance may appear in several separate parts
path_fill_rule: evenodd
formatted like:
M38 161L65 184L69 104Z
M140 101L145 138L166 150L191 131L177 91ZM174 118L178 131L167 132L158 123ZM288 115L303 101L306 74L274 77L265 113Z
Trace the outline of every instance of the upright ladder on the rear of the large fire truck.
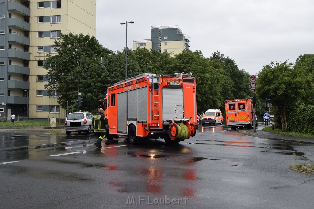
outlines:
M159 92L159 76L152 76L153 88L153 123L160 123L160 92ZM155 107L155 104L157 107Z

